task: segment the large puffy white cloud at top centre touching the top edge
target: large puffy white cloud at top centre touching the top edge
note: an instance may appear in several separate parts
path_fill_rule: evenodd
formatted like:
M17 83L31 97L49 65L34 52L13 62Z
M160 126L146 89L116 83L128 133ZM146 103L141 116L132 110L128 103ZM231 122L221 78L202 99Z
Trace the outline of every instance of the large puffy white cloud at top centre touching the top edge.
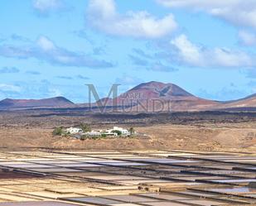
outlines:
M159 38L176 30L176 22L170 14L157 18L148 12L116 11L114 0L90 0L87 10L88 22L110 35Z

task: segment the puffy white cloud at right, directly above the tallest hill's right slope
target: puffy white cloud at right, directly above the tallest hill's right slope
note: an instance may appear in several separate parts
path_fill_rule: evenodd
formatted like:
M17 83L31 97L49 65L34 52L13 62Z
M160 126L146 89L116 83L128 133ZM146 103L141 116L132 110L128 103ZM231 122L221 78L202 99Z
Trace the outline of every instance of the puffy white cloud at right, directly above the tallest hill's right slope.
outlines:
M180 64L198 67L252 67L254 57L243 51L226 48L205 48L191 43L185 35L171 41Z

